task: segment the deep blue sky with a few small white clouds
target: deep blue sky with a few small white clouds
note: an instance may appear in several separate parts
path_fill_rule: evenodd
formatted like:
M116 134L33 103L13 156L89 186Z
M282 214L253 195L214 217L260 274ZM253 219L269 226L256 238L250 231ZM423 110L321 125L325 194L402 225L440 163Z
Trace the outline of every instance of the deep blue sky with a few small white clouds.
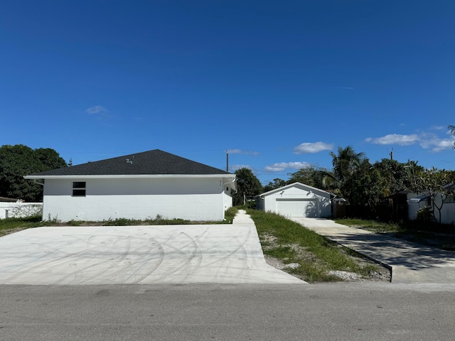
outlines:
M1 1L0 145L263 184L353 146L455 169L455 1Z

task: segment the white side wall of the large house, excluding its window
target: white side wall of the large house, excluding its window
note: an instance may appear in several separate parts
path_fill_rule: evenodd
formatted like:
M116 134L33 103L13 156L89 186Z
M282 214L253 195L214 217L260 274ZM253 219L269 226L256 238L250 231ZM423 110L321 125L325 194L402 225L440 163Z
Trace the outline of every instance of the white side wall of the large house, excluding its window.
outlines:
M85 181L85 197L72 196L73 181ZM145 220L161 215L219 221L232 206L225 187L222 178L46 179L43 218Z

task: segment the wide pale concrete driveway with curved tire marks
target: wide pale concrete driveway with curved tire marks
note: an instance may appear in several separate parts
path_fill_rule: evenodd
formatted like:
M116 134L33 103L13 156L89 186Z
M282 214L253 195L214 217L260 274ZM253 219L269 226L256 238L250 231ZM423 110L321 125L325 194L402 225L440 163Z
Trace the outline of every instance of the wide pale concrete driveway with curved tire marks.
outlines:
M0 284L305 283L269 266L254 222L39 227L0 238Z

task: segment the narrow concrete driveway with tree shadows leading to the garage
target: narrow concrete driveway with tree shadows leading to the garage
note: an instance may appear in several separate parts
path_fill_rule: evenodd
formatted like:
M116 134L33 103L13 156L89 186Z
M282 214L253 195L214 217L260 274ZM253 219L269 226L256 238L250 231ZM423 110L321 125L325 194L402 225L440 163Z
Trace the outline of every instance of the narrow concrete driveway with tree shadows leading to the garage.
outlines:
M289 219L338 244L392 266L393 283L455 283L455 252L348 227L328 219Z

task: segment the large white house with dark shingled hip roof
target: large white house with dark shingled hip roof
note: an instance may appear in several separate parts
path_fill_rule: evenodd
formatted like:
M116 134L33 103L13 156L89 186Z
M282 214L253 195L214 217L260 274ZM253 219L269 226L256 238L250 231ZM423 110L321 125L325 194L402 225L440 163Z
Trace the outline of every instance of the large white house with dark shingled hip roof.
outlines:
M43 219L224 219L235 174L159 149L27 175L44 186Z

